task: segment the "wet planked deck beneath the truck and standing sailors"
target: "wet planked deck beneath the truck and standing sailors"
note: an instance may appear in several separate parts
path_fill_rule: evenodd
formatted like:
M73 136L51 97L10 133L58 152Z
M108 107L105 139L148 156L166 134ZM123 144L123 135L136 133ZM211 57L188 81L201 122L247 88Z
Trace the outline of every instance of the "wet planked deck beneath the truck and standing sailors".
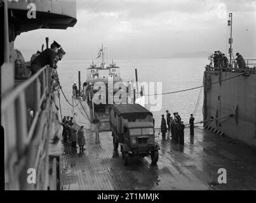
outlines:
M60 157L61 190L256 190L256 150L211 132L185 129L185 145L161 141L158 166L148 157L131 158L123 166L121 154L112 158L112 136L86 132L83 155L64 146ZM78 148L77 148L78 150ZM219 184L219 168L227 171L227 184Z

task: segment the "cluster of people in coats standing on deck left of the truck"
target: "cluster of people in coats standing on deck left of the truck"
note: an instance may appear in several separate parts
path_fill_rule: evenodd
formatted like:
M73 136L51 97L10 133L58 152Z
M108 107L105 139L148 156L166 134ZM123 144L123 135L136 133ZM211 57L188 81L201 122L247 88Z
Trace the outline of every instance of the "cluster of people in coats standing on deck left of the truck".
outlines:
M76 149L77 145L79 147L79 154L84 154L84 145L85 139L84 139L84 126L81 126L79 130L74 127L74 121L73 117L70 116L64 116L62 119L62 137L64 145L67 143L71 143L71 147Z

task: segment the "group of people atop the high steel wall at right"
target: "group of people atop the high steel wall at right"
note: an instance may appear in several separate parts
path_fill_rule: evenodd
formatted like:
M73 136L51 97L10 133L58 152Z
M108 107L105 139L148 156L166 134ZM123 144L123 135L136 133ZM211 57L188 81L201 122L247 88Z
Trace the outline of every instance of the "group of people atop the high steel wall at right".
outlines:
M214 51L213 55L210 56L210 60L211 60L210 65L212 65L212 62L213 62L213 67L215 68L228 70L231 67L231 64L229 64L229 60L227 59L227 56L221 51ZM239 69L246 68L245 60L240 53L236 53L236 58L234 60L237 62Z

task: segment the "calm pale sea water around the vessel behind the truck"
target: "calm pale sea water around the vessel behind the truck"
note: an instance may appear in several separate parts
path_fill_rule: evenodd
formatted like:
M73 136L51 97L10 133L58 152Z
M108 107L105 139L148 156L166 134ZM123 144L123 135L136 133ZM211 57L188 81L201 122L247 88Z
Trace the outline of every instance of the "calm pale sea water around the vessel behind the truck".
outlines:
M98 62L100 63L100 62ZM109 62L111 63L111 62ZM115 60L114 63L121 68L123 81L135 81L135 68L138 72L138 81L162 82L163 93L179 91L182 89L201 86L205 65L208 58L158 58L158 59L130 59ZM78 71L81 71L81 82L86 80L86 69L90 67L91 60L65 60L58 63L58 74L62 89L71 101L72 84L78 81ZM107 63L108 64L108 63ZM190 114L196 107L200 89L163 95L162 108L152 112L156 120L156 126L161 122L161 114L165 110L179 112L185 124L189 122ZM62 114L71 115L71 107L61 94ZM202 121L203 95L199 101L195 121Z

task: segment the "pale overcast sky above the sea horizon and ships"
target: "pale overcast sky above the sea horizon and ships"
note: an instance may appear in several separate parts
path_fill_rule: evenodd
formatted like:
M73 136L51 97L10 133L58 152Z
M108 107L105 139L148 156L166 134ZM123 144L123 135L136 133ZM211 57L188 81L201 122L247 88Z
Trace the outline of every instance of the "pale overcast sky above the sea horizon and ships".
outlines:
M27 60L50 37L50 43L60 43L70 59L93 59L102 43L109 58L226 53L230 12L234 53L256 56L256 0L77 0L74 27L25 32L17 37L15 48Z

